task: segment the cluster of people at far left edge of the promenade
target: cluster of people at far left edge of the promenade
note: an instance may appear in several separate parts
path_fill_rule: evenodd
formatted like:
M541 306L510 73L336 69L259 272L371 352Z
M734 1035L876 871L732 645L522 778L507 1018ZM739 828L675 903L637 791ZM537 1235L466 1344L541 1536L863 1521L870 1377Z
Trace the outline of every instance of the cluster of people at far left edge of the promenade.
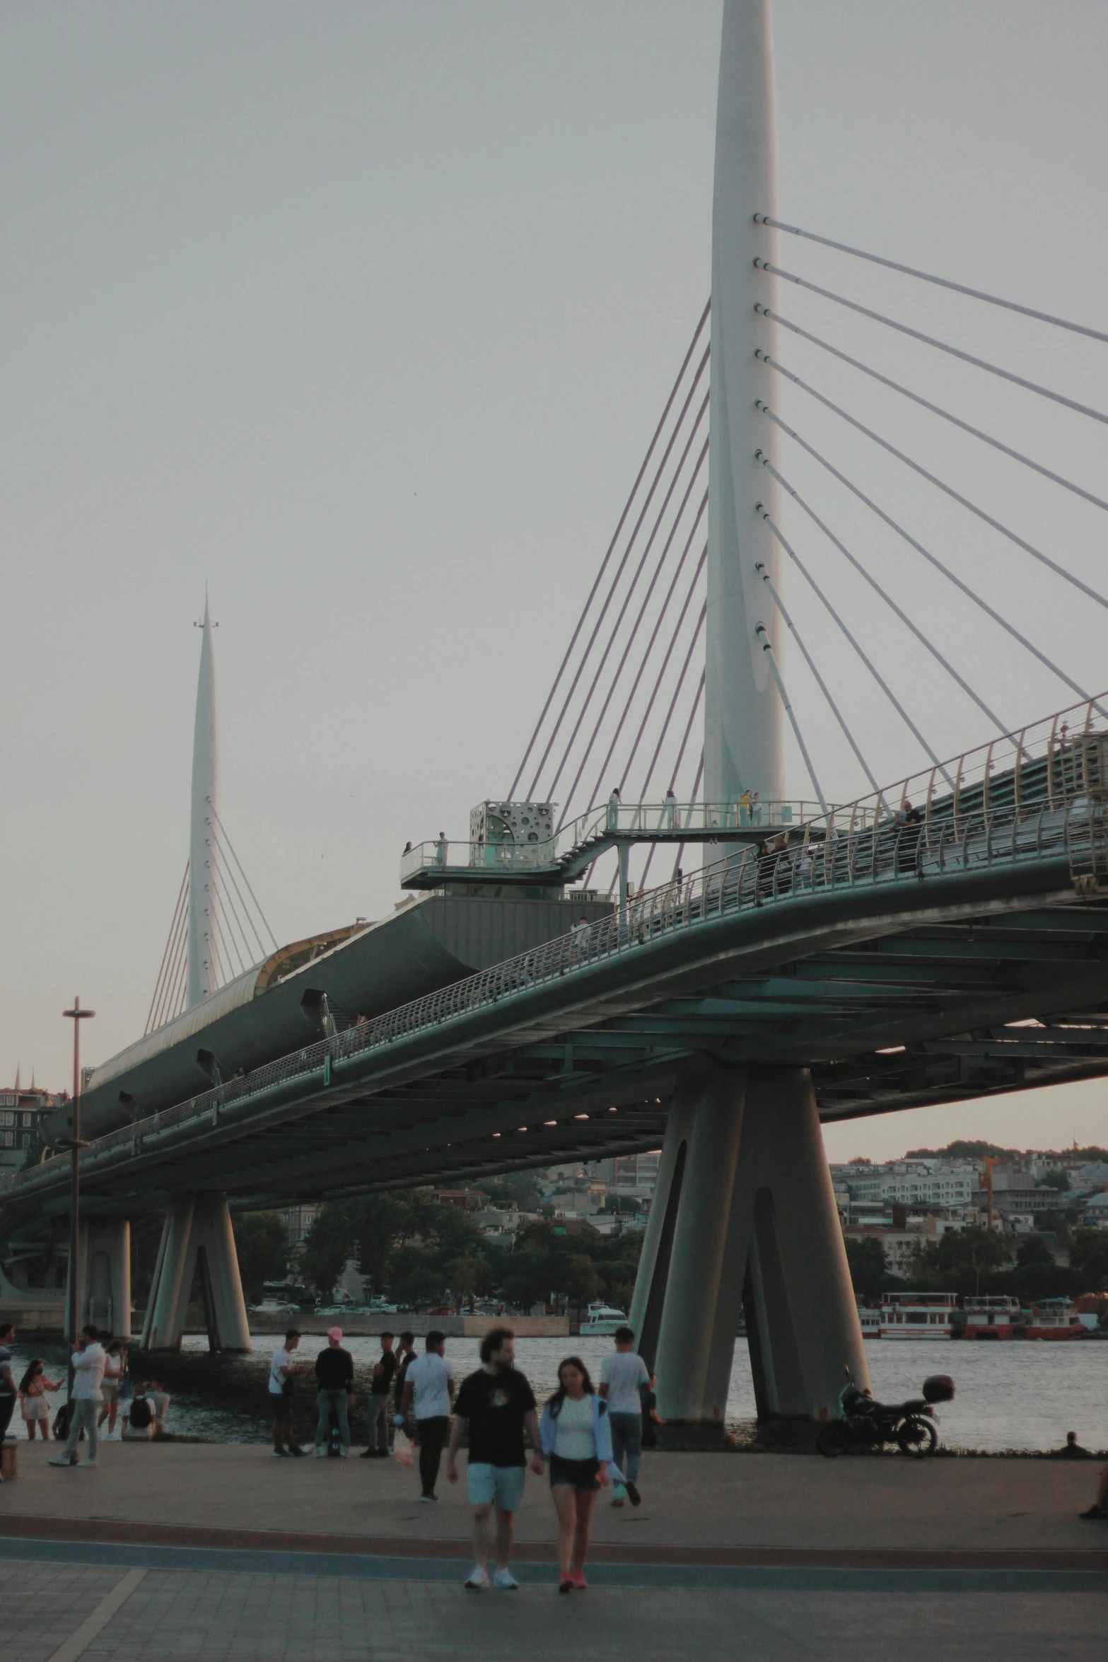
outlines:
M48 1391L60 1391L65 1379L50 1379L42 1356L32 1356L17 1386L12 1373L12 1345L15 1328L12 1323L0 1325L0 1441L8 1431L15 1404L18 1401L27 1438L35 1441L35 1434L47 1443L50 1436L50 1403ZM53 1433L65 1438L65 1449L51 1466L76 1464L76 1444L81 1436L88 1441L88 1456L83 1466L95 1466L100 1448L100 1428L108 1424L106 1436L116 1441L148 1441L154 1433L164 1431L164 1416L169 1406L169 1394L158 1379L146 1384L135 1384L128 1373L126 1343L110 1333L100 1333L88 1325L81 1328L76 1350L71 1356L73 1389L70 1401L63 1403L53 1421ZM121 1418L121 1433L116 1434L116 1418Z

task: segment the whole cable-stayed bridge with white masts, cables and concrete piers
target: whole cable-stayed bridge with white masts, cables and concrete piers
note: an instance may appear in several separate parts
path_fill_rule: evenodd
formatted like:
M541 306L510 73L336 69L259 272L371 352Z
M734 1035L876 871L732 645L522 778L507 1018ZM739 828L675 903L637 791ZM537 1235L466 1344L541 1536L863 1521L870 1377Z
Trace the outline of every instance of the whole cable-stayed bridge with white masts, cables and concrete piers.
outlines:
M1108 698L1076 668L1080 628L1052 627L1052 607L1065 620L1076 600L1085 627L1108 603L1095 560L1043 538L1048 520L993 512L960 470L895 442L885 406L847 407L781 341L1081 514L1108 504L1045 444L1020 449L786 314L782 284L1068 420L1106 417L792 271L781 244L1098 351L1108 337L786 224L762 0L724 10L718 121L711 304L513 783L473 809L468 838L405 849L412 897L392 919L226 974L214 668L209 698L201 673L189 873L206 876L183 889L153 1029L86 1097L86 1203L103 1220L90 1265L100 1253L116 1278L116 1308L126 1222L166 1215L153 1346L176 1343L198 1260L216 1340L249 1343L228 1195L473 1182L661 1142L633 1325L663 1413L718 1426L744 1303L759 1411L819 1416L844 1361L865 1374L819 1119L1108 1072ZM1007 582L922 530L890 475L847 469L867 449L1003 545ZM1040 693L1038 710L1066 708L1033 720ZM934 733L947 696L983 736L954 756ZM882 763L890 745L899 768ZM832 778L856 789L829 794ZM0 1187L13 1250L65 1212L66 1180L55 1158Z

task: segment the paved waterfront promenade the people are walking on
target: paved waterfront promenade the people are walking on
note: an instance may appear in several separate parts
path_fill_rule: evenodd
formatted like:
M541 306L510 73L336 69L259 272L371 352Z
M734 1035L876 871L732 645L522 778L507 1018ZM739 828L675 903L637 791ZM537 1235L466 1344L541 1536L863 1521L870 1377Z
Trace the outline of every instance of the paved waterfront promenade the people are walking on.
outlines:
M1100 1657L1095 1466L648 1454L643 1506L598 1502L590 1591L555 1591L528 1476L518 1594L465 1594L463 1483L420 1506L385 1461L244 1444L106 1444L98 1471L20 1446L0 1489L5 1642L22 1662L518 1657L924 1662Z

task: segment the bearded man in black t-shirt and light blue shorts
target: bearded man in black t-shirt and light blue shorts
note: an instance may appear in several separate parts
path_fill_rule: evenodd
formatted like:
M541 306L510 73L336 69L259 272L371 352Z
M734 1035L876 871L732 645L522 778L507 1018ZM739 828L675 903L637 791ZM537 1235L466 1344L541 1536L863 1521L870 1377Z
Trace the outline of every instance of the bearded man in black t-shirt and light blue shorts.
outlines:
M508 1569L515 1514L523 1499L527 1454L523 1433L535 1449L532 1471L542 1478L545 1463L538 1443L535 1393L525 1374L515 1368L515 1335L512 1328L490 1328L480 1343L482 1365L462 1381L453 1404L453 1426L447 1451L447 1481L458 1481L457 1456L468 1431L468 1489L473 1507L473 1569L465 1586L517 1589ZM492 1514L497 1511L497 1567L488 1576L492 1551Z

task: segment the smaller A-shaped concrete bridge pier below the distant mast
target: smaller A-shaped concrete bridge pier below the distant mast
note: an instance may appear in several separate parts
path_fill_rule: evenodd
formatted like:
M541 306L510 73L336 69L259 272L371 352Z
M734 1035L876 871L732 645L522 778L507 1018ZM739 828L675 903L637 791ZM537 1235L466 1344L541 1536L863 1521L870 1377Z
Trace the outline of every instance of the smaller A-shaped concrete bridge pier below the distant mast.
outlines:
M198 1268L211 1350L249 1351L228 1197L203 1190L174 1195L169 1202L146 1301L143 1350L181 1350Z

